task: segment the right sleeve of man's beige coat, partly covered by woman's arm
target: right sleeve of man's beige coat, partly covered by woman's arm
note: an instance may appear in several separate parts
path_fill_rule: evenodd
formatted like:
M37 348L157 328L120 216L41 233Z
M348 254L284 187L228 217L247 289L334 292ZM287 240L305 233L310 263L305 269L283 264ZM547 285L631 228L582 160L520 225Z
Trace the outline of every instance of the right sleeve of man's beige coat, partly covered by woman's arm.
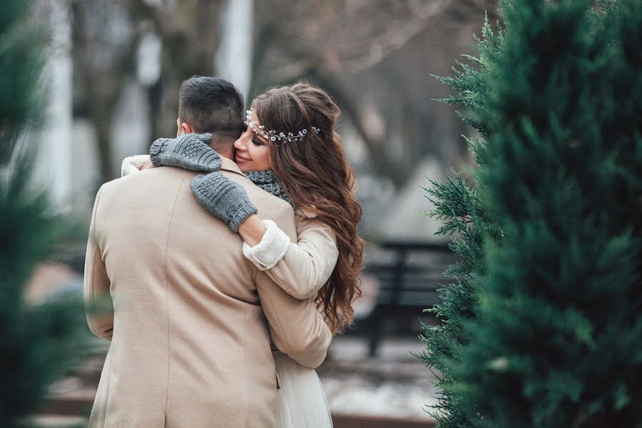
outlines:
M284 205L275 223L295 239L294 213ZM299 300L282 290L265 272L256 277L258 297L276 347L305 367L321 365L332 341L332 332L312 299Z

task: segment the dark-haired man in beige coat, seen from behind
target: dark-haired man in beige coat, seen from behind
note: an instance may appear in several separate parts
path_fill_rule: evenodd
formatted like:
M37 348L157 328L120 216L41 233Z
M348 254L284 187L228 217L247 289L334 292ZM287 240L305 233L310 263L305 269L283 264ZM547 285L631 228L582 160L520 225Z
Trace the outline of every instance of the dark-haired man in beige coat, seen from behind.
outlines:
M194 114L208 103L208 118ZM223 79L181 86L179 134L214 131L211 145L231 157L242 120L242 98ZM229 159L220 171L296 239L289 204ZM307 367L325 359L332 335L315 304L290 297L243 257L240 236L194 198L195 175L153 168L98 190L85 297L111 297L114 310L87 316L91 331L111 341L90 427L276 427L270 342Z

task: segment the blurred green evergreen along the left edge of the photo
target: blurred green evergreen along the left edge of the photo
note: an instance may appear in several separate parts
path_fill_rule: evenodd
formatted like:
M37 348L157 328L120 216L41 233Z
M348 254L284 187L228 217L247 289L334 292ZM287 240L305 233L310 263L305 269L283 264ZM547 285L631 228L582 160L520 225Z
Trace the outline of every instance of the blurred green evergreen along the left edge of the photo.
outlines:
M78 300L28 305L24 286L36 263L49 258L63 219L47 198L29 190L31 157L6 165L16 136L38 111L37 81L43 66L38 31L29 24L29 1L0 6L0 426L24 427L46 389L68 370L86 343Z

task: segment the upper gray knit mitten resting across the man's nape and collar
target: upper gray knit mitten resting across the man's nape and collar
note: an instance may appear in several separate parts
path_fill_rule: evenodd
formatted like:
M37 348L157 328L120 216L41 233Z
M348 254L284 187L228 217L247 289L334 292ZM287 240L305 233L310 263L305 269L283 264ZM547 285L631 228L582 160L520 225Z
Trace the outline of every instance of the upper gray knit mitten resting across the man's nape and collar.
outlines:
M154 166L178 166L190 171L213 173L220 169L220 156L208 146L211 138L210 133L158 138L149 148L149 157Z

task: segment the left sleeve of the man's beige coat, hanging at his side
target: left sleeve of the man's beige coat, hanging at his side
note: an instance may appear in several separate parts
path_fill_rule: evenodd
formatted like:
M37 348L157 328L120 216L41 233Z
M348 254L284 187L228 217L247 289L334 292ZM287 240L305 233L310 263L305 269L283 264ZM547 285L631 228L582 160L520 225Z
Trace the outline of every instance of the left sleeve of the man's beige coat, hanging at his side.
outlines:
M102 188L101 188L102 190ZM89 238L87 240L87 253L85 256L85 277L83 296L86 305L86 317L89 330L105 340L111 341L113 334L113 305L109 289L111 283L107 276L105 263L101 250L96 241L96 212L101 198L98 190L96 202L93 204Z

